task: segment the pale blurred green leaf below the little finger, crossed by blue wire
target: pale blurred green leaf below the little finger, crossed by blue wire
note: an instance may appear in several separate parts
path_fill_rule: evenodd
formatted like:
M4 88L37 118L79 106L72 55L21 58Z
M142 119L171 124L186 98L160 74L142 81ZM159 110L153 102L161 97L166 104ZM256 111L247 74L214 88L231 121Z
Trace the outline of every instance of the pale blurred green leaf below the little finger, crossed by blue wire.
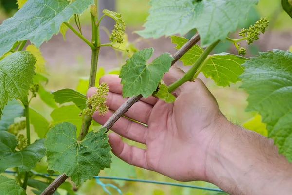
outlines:
M136 171L135 167L132 165L129 165L128 163L124 162L114 154L110 152L112 158L111 158L111 165L110 169L105 169L105 172L107 176L113 176L113 177L130 177L130 178L136 178ZM125 185L125 181L123 180L114 180L115 183L119 184L120 187Z

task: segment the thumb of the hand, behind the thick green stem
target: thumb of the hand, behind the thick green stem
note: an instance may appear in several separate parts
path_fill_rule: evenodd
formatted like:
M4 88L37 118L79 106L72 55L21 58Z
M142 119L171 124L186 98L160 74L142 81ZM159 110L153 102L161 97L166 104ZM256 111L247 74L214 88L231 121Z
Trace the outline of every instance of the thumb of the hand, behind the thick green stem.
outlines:
M185 72L182 69L172 66L169 72L164 74L163 81L168 86L184 76ZM199 79L200 80L200 79ZM194 82L186 82L175 90L175 94L179 96L183 91L189 91L196 88L197 79ZM201 83L200 83L201 84Z

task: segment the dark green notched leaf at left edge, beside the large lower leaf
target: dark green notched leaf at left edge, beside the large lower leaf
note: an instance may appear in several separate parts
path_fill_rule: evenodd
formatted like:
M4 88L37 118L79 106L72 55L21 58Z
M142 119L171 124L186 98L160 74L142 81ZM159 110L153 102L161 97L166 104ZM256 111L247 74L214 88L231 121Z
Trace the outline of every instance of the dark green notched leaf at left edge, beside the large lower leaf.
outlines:
M2 151L0 153L0 173L12 167L19 167L19 171L29 171L45 156L44 139L36 140L27 148L16 151L16 137L13 134L0 131L0 137ZM10 141L12 142L10 143Z

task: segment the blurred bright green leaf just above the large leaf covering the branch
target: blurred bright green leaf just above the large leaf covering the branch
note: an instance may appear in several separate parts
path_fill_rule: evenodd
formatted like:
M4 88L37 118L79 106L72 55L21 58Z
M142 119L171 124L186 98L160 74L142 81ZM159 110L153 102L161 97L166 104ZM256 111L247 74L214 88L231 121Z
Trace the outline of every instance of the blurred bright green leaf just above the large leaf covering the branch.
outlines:
M79 114L80 109L75 104L56 108L51 113L52 125L65 121L70 122L77 127L79 133L82 125L82 118L79 117Z

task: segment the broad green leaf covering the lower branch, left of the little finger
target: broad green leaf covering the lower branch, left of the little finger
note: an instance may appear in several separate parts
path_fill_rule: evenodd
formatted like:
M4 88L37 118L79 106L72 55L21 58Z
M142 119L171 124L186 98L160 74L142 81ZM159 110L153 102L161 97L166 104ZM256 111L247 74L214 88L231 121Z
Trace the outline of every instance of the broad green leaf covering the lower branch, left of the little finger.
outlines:
M77 185L110 168L108 135L103 128L89 132L82 141L76 137L76 126L63 122L47 133L45 141L48 169L65 173Z

